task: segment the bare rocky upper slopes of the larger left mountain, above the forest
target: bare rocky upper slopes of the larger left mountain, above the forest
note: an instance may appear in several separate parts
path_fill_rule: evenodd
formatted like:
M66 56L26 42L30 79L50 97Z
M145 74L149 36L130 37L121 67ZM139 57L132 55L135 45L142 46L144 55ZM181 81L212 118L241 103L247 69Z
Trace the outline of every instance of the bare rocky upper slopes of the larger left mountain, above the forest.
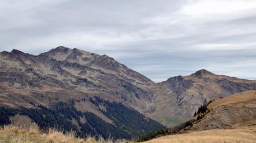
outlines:
M13 50L0 57L1 101L9 101L2 105L31 107L31 101L48 106L104 96L143 112L154 97L148 92L151 80L106 55L57 47L38 56Z

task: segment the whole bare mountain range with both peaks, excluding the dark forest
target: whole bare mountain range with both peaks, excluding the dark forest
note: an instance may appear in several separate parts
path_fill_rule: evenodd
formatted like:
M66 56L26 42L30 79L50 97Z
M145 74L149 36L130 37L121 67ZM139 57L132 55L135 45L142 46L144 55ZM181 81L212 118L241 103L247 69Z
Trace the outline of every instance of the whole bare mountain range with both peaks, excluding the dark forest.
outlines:
M253 90L254 80L215 75L200 70L189 76L154 83L107 55L56 47L40 55L13 50L0 53L0 105L51 109L59 102L74 101L76 110L92 112L106 123L105 106L90 98L122 103L164 125L191 118L210 99ZM75 124L75 123L74 123Z

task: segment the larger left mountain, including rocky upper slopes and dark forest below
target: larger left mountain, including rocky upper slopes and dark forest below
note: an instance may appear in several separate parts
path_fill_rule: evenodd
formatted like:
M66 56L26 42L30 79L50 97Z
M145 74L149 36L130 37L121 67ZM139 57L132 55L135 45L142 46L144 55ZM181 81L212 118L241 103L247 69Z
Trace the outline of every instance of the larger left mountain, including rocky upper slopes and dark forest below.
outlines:
M0 121L10 123L11 116L21 114L41 128L57 125L78 135L131 138L164 128L138 112L149 108L151 85L151 80L106 55L62 46L37 56L3 51L0 105L9 109L1 109L6 119ZM63 103L71 107L57 110Z

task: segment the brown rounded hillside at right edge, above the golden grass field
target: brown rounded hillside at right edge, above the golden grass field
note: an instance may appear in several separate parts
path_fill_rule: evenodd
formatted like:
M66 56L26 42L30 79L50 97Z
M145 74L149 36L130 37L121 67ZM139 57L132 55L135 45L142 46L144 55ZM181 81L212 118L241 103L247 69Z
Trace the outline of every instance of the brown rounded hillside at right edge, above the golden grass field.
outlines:
M256 91L247 91L217 99L208 105L211 111L192 130L229 129L256 125Z

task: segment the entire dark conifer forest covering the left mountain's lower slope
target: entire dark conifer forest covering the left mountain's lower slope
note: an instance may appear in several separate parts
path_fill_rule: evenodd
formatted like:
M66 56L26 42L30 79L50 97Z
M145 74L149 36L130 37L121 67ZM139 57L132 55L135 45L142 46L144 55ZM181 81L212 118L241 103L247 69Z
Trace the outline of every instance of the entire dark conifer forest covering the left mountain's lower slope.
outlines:
M89 101L96 105L98 110L110 120L113 120L113 124L105 122L92 112L76 110L75 102L71 101L69 103L58 102L51 108L42 105L38 105L34 109L0 107L0 125L10 124L10 116L20 114L31 118L32 122L38 124L43 131L52 127L64 132L75 131L78 137L101 135L104 138L112 136L116 139L131 139L138 137L141 133L165 128L162 124L146 118L138 111L121 103L104 101L99 97L90 98ZM106 110L101 110L100 105L105 106ZM86 122L82 122L81 119L85 119ZM76 125L72 123L74 120L77 122Z

